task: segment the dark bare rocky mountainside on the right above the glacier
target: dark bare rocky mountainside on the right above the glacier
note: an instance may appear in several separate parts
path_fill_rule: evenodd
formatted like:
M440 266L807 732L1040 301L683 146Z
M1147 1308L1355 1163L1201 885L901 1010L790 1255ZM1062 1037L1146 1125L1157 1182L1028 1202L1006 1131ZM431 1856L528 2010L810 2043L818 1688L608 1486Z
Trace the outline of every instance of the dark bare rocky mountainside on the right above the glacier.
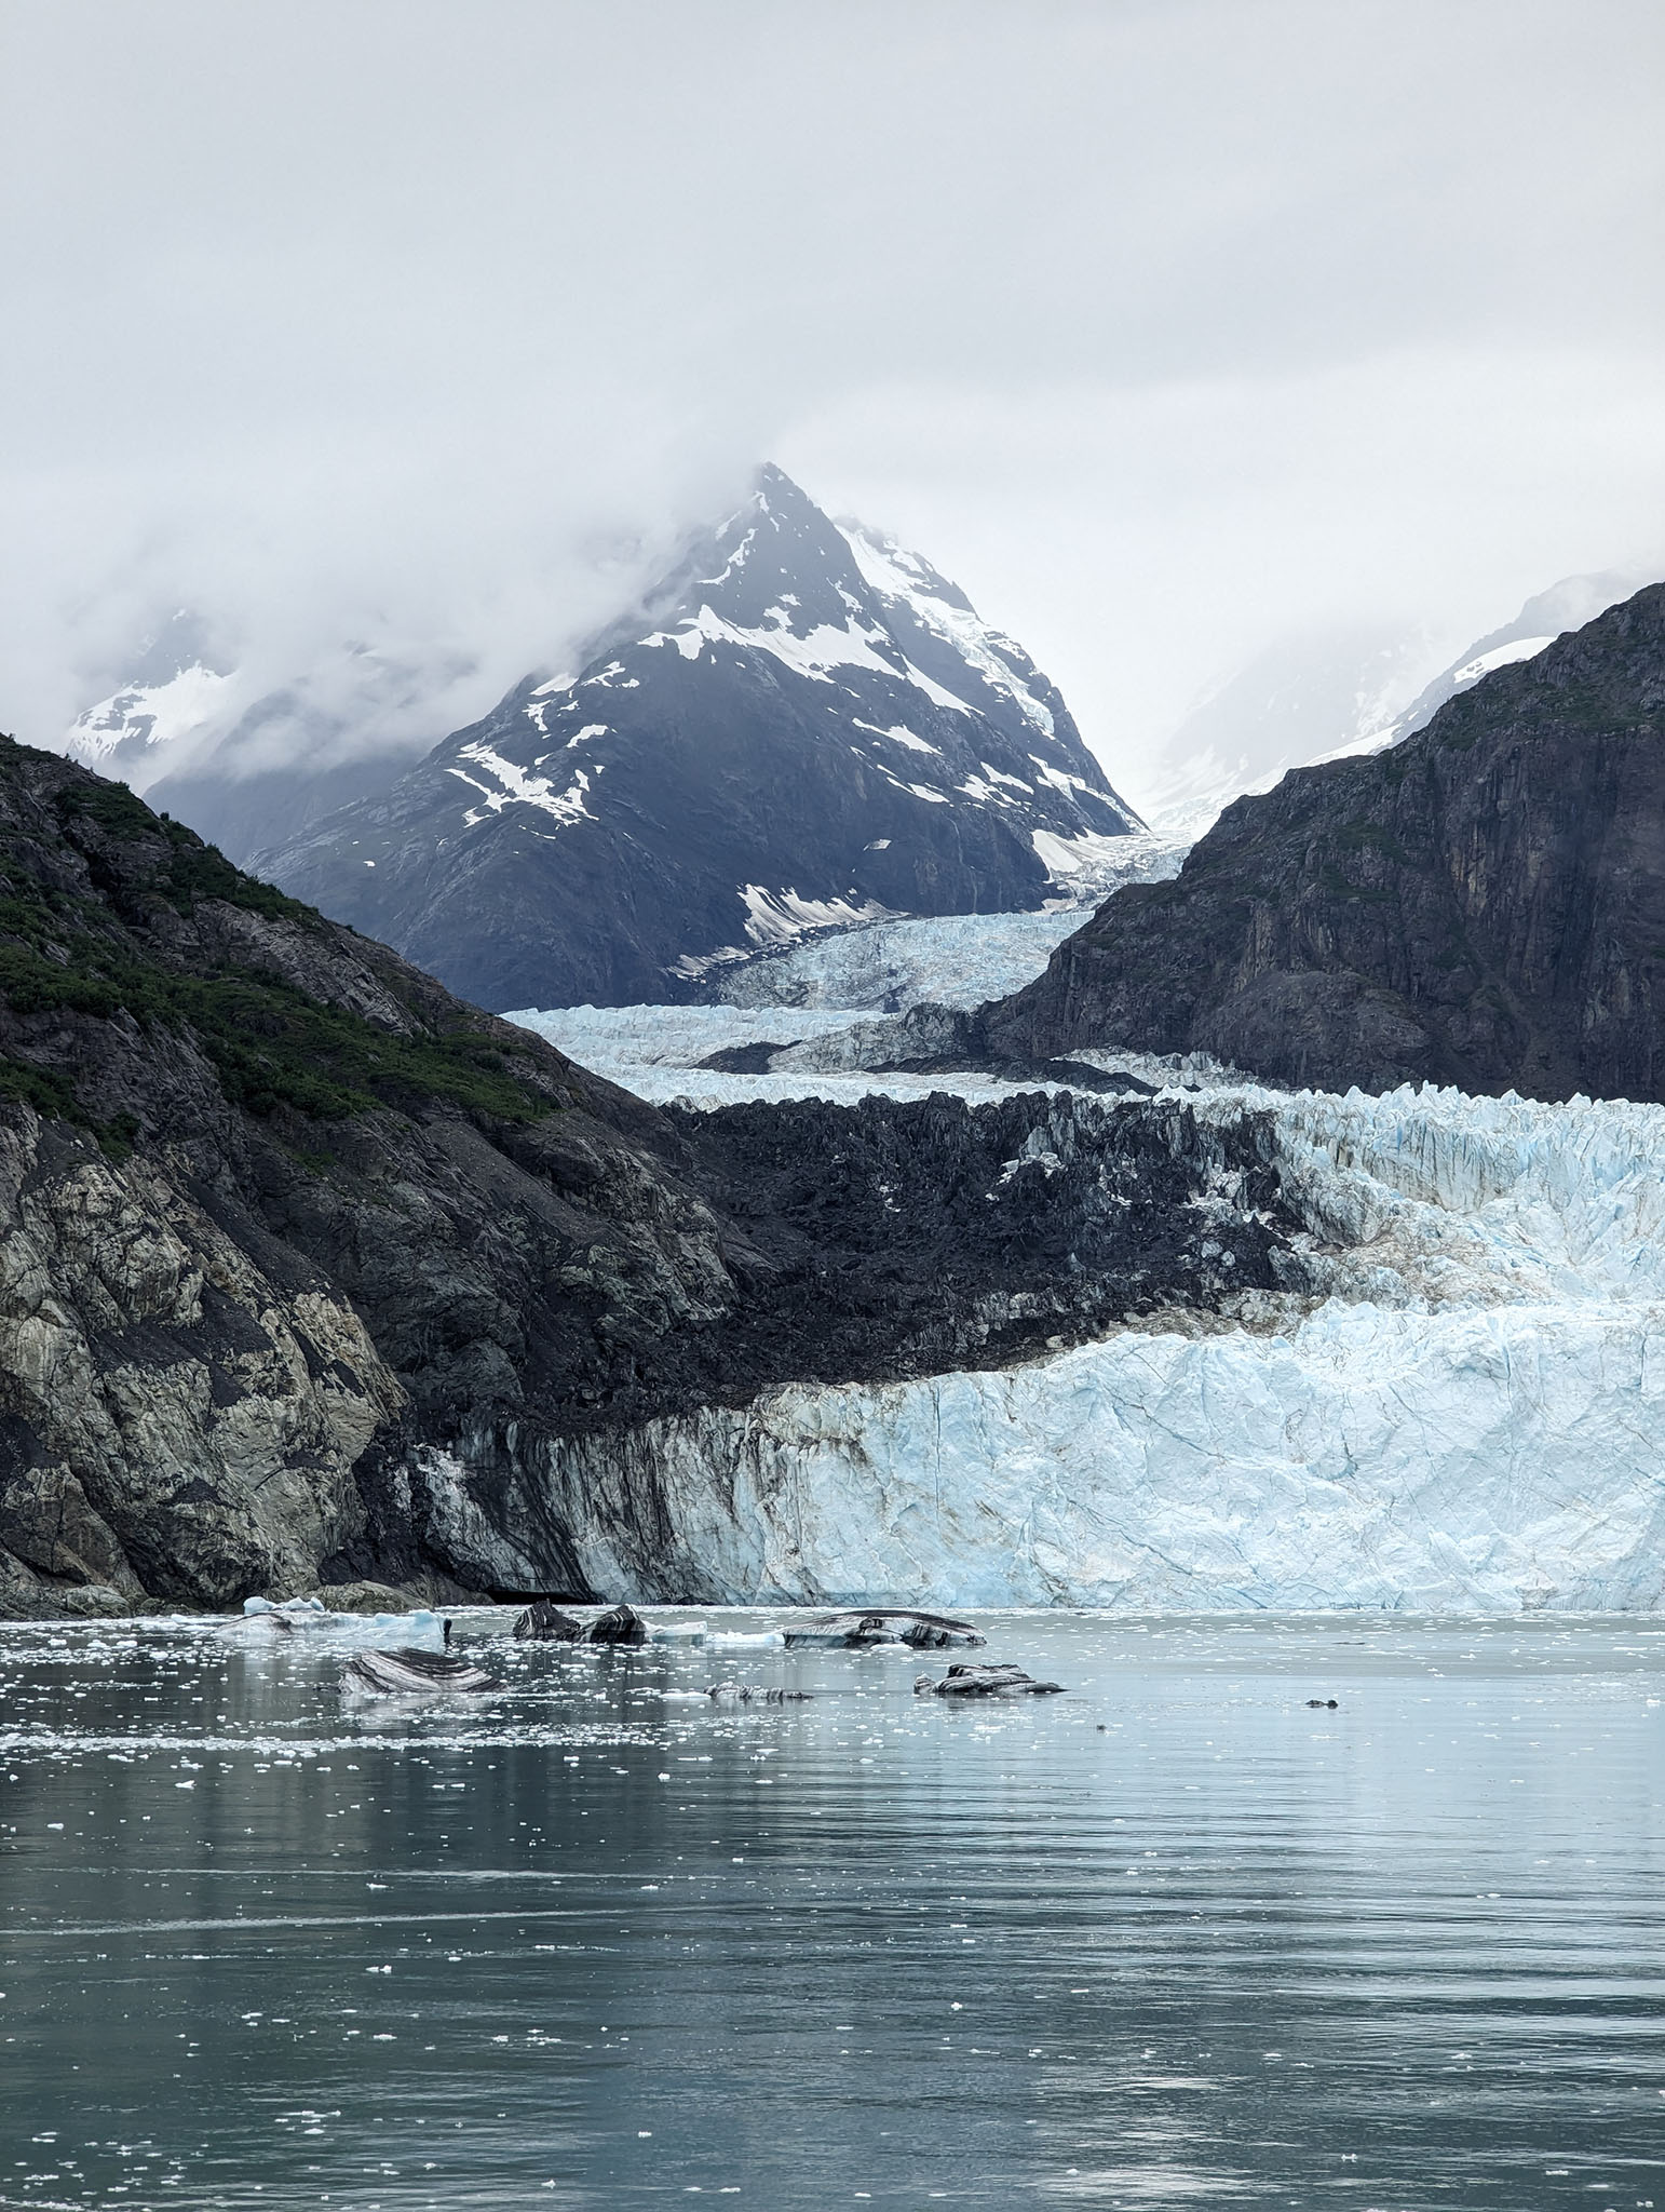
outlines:
M1117 891L997 1053L1205 1051L1276 1082L1665 1099L1665 586L1391 752L1238 799Z

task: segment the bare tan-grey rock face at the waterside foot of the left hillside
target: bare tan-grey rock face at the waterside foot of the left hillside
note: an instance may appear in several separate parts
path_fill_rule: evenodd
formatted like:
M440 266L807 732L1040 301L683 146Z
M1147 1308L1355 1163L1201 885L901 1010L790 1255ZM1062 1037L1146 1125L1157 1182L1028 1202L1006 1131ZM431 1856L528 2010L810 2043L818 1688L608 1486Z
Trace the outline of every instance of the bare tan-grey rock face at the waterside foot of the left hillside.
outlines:
M35 1115L0 1128L0 1606L316 1579L405 1405L352 1305L272 1281L188 1188Z

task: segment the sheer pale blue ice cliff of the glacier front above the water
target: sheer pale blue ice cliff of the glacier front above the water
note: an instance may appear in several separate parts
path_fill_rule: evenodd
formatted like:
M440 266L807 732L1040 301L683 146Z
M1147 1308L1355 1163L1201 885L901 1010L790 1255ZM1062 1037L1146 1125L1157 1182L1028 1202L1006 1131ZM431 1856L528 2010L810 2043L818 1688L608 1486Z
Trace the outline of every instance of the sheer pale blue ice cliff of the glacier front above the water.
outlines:
M637 1449L708 1601L1656 1608L1661 1354L1658 1310L1327 1305L1271 1338L789 1387ZM681 1595L568 1458L590 1582Z

